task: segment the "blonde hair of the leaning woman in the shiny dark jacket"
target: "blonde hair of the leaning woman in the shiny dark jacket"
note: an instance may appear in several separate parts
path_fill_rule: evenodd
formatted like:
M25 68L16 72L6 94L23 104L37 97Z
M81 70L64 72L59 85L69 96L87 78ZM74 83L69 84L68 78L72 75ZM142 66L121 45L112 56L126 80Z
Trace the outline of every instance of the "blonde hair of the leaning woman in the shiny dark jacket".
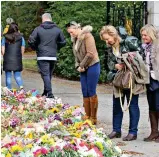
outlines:
M121 37L119 36L118 31L116 30L116 28L114 26L111 26L111 25L103 26L100 31L101 40L104 40L103 34L108 34L108 35L114 37L115 39L117 39L119 42L121 41Z

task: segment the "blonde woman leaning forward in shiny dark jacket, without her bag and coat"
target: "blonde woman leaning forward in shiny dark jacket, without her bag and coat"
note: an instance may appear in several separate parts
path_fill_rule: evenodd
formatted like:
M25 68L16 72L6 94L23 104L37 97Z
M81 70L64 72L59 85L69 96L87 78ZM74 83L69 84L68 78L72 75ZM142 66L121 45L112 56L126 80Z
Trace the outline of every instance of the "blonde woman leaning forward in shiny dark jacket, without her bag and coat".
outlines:
M124 27L119 27L118 31L114 26L103 26L100 31L100 37L107 45L107 65L109 68L108 78L113 81L118 72L125 69L125 64L121 60L121 56L127 52L139 51L138 39L133 36L128 36ZM122 37L122 38L121 38ZM113 87L114 88L114 87ZM121 99L115 96L113 90L113 131L108 135L110 139L121 137L121 125L123 119L122 104L126 97L127 102L130 100L129 115L130 125L129 132L123 141L132 141L137 139L138 122L140 110L138 106L138 93L133 93L132 98L130 89L123 90Z

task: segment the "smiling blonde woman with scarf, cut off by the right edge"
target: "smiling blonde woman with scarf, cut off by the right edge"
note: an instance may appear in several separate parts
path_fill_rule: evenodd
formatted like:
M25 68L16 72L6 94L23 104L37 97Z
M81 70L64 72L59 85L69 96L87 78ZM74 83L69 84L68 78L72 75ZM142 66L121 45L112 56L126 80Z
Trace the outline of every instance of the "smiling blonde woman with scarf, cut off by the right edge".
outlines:
M147 100L151 133L144 141L159 142L159 31L147 24L140 30L143 40L144 61L148 65L150 83L147 84Z

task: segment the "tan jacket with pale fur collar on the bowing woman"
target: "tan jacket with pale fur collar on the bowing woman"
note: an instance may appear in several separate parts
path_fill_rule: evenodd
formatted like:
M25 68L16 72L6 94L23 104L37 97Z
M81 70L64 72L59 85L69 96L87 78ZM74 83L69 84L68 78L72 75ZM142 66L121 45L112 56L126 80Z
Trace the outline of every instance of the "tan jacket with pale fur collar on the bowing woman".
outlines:
M94 37L90 33L91 26L85 26L77 39L73 39L73 53L75 56L75 67L87 69L89 66L99 62L98 52Z

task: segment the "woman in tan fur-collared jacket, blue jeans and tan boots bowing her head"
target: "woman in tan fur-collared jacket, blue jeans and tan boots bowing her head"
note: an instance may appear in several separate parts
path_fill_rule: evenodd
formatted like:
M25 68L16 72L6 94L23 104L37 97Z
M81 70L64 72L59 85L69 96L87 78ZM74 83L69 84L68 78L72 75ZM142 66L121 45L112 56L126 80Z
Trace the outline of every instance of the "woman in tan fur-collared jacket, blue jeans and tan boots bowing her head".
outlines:
M66 25L66 28L73 40L75 67L80 72L85 118L96 124L98 109L96 87L100 75L100 63L95 40L91 34L92 27L81 28L80 24L72 21Z

